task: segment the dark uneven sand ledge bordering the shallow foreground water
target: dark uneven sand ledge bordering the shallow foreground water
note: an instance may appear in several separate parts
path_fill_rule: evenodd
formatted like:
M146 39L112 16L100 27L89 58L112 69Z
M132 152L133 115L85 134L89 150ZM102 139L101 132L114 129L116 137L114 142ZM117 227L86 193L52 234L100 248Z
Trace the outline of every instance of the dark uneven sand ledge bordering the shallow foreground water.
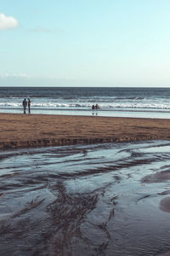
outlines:
M163 139L156 136L151 137L94 137L94 138L52 138L52 139L37 139L30 141L14 141L14 142L2 142L0 143L0 150L12 149L12 148L38 148L45 146L69 146L76 144L94 144L94 143L131 143L146 140Z

